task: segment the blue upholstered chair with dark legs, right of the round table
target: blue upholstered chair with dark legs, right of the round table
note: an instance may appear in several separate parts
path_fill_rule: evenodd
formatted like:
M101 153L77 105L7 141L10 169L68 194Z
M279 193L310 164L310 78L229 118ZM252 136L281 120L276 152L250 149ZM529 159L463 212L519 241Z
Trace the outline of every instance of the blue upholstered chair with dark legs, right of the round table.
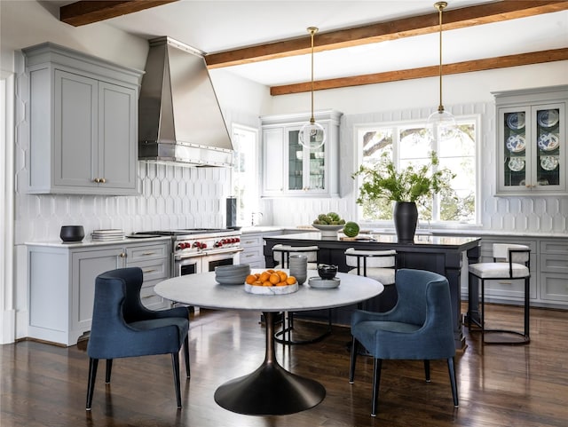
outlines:
M430 382L430 360L446 359L457 407L454 322L446 277L401 269L396 274L396 286L398 301L389 312L357 310L352 315L349 382L353 383L358 346L362 344L375 358L371 415L376 416L383 360L423 360L426 381Z

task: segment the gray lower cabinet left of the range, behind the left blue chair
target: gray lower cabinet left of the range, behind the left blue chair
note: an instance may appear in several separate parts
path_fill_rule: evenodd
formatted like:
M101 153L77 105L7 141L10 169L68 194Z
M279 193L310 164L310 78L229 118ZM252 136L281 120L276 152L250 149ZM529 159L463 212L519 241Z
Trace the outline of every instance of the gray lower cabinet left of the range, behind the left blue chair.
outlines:
M91 330L95 279L100 273L139 266L141 299L148 308L165 308L154 285L170 276L170 241L105 244L28 244L28 336L73 345Z

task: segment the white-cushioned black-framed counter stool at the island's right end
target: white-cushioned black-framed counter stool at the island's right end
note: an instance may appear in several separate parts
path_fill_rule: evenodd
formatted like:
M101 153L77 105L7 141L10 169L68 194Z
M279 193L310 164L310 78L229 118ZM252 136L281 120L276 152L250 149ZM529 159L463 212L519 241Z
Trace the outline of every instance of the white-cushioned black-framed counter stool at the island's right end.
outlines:
M469 295L472 295L473 281L481 282L481 304L479 307L479 321L468 316L468 328L475 323L481 328L481 339L484 344L528 344L529 336L529 300L530 300L530 253L531 249L525 245L494 243L493 263L477 263L469 265ZM488 280L525 280L525 330L518 332L508 329L485 328L485 281ZM485 334L513 335L510 340L485 340Z

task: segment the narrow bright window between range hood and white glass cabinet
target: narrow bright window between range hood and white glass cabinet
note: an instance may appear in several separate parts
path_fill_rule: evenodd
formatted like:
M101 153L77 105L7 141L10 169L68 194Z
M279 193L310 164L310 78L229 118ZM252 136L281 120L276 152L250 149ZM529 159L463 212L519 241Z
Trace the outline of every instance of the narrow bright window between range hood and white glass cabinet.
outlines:
M233 124L233 195L237 198L237 225L250 225L258 212L258 130Z

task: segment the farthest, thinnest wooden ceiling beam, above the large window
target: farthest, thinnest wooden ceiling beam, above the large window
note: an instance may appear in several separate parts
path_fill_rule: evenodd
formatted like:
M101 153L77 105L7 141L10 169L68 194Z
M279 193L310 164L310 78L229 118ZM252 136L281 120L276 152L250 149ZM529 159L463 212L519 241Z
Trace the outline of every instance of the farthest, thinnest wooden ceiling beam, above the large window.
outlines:
M568 2L567 2L568 3ZM454 64L446 64L442 67L443 75L453 75L470 73L473 71L484 71L488 69L519 67L543 62L558 60L568 60L568 48L556 49L551 51L534 51L517 55L508 55L487 59L476 59ZM361 86L364 84L397 82L400 80L411 80L423 77L434 77L439 75L439 66L412 68L385 73L370 75L356 75L351 77L341 77L335 79L319 80L313 83L314 91L325 89L338 89L350 86ZM286 84L282 86L272 86L270 94L289 95L290 93L308 92L312 90L312 83Z

